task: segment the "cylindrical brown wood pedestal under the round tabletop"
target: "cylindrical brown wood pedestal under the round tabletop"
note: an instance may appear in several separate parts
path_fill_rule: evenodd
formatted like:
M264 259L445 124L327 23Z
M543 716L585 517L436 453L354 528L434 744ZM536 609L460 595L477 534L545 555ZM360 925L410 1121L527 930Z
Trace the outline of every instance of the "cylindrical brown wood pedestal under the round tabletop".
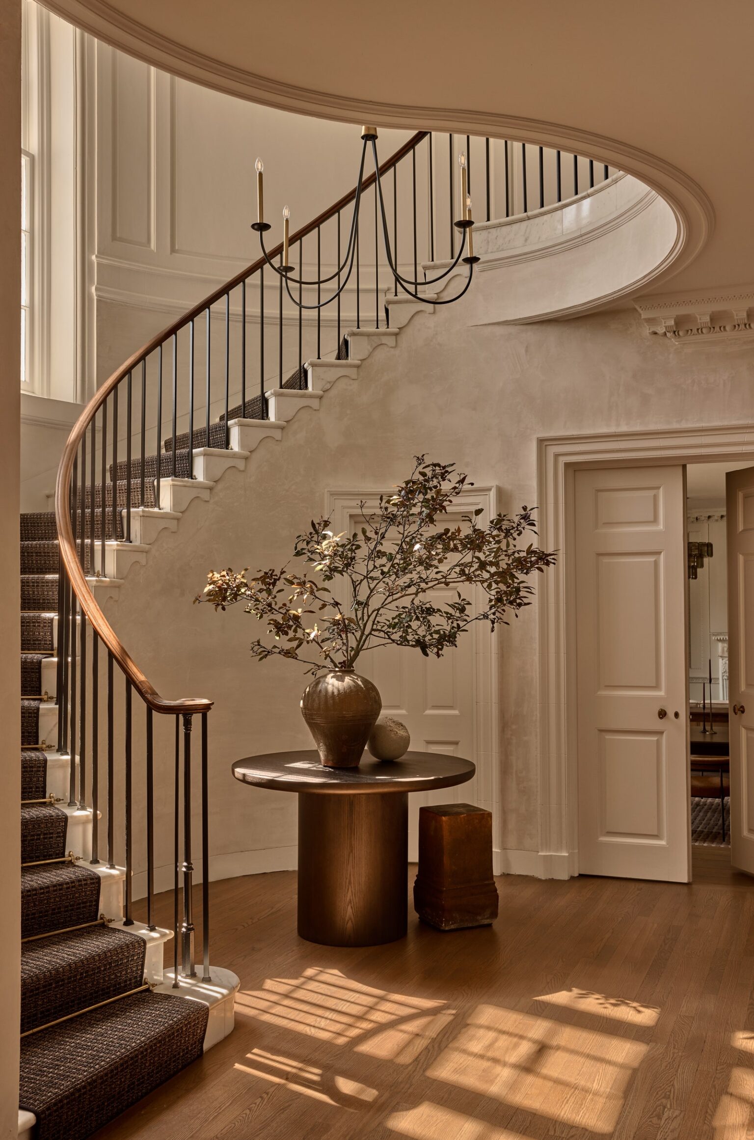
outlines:
M299 935L376 946L406 934L408 796L299 793Z

